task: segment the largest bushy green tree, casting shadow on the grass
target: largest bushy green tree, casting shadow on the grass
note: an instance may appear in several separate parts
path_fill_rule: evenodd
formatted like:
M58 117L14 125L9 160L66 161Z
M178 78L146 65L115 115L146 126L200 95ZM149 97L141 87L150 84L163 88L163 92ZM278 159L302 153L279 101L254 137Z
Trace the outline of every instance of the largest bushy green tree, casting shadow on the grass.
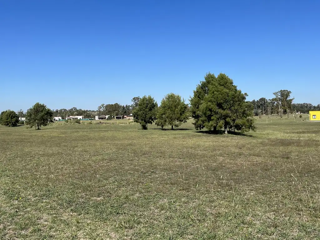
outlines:
M246 97L225 74L217 77L207 74L190 100L193 115L197 117L196 129L224 129L225 133L228 129L254 130L253 107Z

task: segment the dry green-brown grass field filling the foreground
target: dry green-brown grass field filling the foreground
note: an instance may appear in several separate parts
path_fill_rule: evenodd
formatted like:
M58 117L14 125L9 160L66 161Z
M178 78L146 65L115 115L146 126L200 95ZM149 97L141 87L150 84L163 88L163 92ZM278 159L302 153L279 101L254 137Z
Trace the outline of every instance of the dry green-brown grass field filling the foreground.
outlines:
M0 239L320 239L320 123L257 121L1 126Z

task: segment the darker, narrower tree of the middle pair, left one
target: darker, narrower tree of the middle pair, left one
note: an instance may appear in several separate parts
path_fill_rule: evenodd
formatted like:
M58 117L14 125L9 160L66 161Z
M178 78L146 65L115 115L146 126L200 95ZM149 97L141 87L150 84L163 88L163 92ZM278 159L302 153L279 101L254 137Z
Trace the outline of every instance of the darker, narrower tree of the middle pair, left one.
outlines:
M157 102L151 96L143 96L138 107L133 109L134 121L141 124L142 129L147 130L148 124L152 124L156 119Z

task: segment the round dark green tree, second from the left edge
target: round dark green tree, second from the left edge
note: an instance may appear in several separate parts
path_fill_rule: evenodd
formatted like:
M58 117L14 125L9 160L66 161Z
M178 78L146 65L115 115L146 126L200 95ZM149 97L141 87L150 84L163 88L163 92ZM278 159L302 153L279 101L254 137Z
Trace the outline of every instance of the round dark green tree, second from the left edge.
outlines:
M46 126L53 121L52 115L52 111L46 105L37 102L28 109L26 124L39 130L41 126Z

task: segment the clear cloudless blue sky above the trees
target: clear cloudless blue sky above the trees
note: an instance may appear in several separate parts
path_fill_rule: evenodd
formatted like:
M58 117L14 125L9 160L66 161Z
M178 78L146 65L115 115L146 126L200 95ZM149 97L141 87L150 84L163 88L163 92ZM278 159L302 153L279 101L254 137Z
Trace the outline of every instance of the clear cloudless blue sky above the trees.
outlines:
M185 99L206 72L248 100L320 103L320 1L0 1L0 110ZM187 100L188 102L188 100Z

